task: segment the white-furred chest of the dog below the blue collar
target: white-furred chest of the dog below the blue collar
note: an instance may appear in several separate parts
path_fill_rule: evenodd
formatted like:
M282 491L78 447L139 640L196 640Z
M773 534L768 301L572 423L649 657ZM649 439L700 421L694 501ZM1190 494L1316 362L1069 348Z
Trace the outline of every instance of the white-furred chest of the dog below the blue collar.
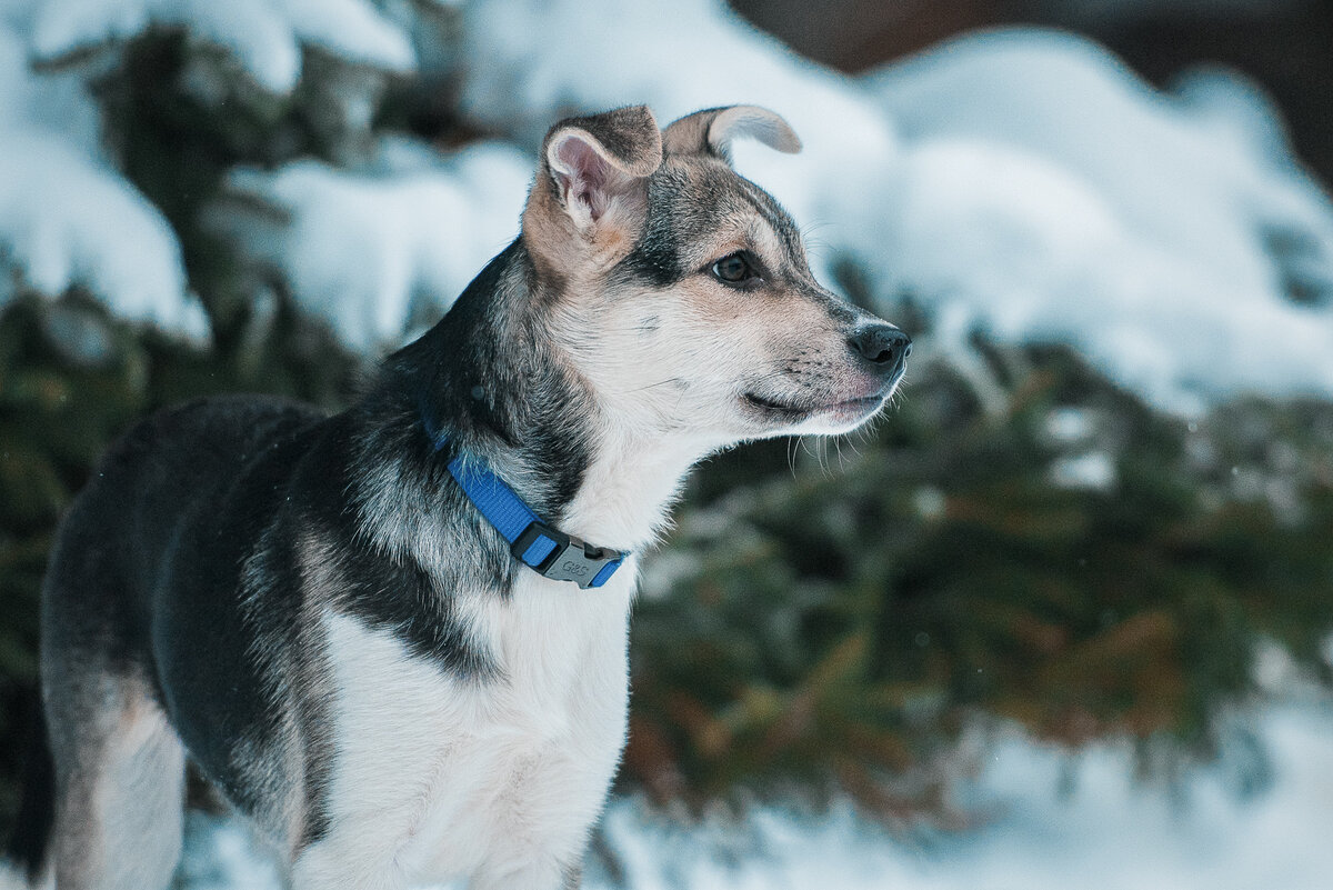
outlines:
M600 590L532 576L464 608L501 677L461 678L328 618L337 750L331 834L409 878L527 851L577 854L624 745L629 572Z

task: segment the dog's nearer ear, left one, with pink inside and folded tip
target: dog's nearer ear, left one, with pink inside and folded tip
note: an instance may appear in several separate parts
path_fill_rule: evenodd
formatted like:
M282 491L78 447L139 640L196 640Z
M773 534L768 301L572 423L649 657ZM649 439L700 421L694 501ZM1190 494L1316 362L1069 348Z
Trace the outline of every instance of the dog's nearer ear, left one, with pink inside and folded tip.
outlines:
M661 163L661 132L647 105L563 120L541 145L543 176L585 234L617 205L641 204L644 180Z

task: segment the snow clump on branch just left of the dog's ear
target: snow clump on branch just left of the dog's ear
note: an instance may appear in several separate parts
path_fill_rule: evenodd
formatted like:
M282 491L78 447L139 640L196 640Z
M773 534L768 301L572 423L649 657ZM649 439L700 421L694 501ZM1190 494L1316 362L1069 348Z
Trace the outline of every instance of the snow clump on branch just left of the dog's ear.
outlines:
M248 265L276 269L303 309L367 352L433 324L513 240L533 169L495 143L440 163L389 148L391 171L235 171L231 200L211 213Z

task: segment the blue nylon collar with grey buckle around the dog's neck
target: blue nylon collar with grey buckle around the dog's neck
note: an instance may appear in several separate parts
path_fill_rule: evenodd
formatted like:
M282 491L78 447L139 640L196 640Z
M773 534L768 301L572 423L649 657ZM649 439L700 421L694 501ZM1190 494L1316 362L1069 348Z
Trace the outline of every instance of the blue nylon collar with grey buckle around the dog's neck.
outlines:
M427 432L435 450L449 438ZM449 476L459 484L473 506L509 542L509 552L529 569L555 581L573 581L580 588L600 588L616 573L628 554L609 548L595 548L541 521L532 508L485 460L459 450L448 464Z

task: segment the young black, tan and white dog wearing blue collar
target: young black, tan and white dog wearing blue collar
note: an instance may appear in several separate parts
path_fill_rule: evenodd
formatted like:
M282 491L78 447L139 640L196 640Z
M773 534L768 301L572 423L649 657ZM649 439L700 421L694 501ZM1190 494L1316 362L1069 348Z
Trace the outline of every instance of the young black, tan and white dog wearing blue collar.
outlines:
M563 120L520 236L352 408L208 398L107 452L43 590L35 879L165 887L189 758L295 890L579 885L686 472L850 432L910 352L814 280L740 137L800 149L746 105Z

